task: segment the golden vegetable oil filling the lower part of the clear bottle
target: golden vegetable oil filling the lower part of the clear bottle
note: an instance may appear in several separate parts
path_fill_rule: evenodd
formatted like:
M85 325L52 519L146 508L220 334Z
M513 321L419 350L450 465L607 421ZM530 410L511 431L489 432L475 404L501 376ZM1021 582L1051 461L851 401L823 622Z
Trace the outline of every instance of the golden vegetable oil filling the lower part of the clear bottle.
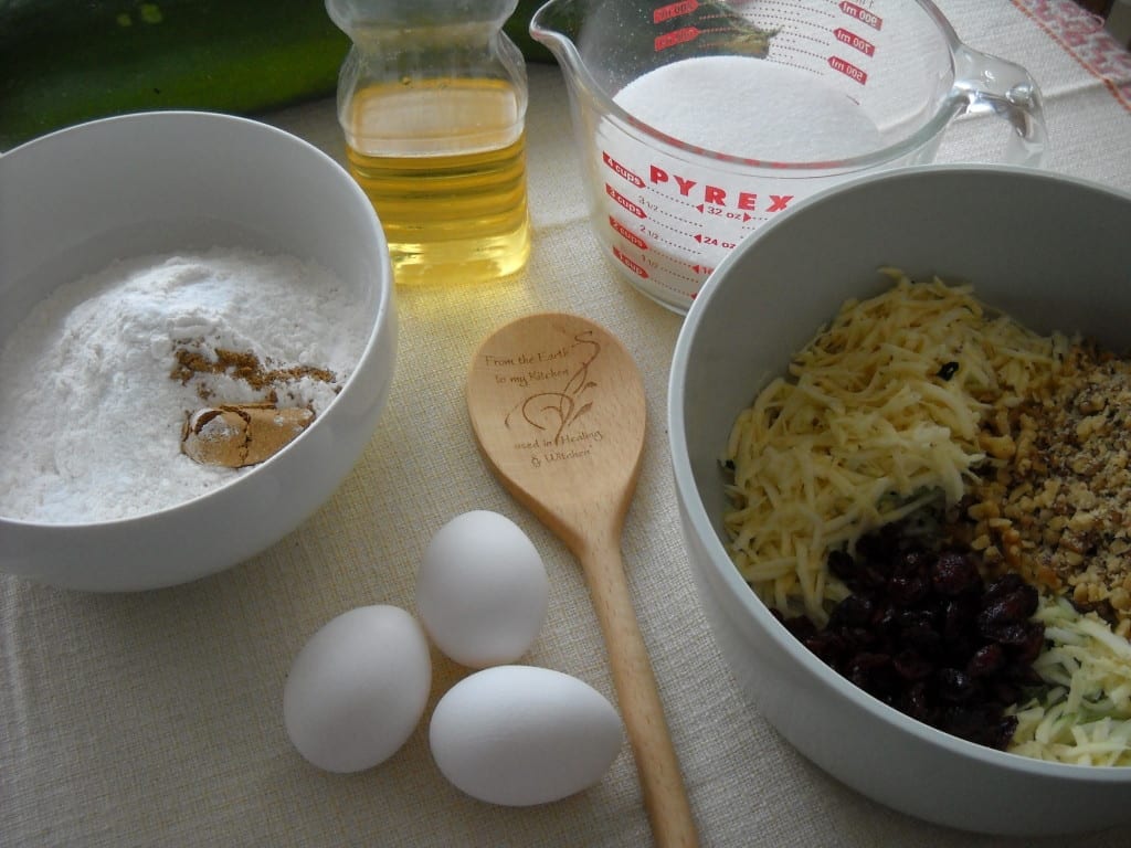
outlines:
M398 283L515 274L530 252L523 98L508 80L381 83L354 93L351 172Z

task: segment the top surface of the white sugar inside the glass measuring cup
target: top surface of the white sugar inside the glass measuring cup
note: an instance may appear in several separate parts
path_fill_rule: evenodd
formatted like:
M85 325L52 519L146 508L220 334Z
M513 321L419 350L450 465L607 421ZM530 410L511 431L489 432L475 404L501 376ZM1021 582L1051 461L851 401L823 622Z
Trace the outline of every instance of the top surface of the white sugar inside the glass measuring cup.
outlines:
M732 156L821 162L882 147L879 129L847 96L765 59L684 59L632 80L613 99L673 138Z

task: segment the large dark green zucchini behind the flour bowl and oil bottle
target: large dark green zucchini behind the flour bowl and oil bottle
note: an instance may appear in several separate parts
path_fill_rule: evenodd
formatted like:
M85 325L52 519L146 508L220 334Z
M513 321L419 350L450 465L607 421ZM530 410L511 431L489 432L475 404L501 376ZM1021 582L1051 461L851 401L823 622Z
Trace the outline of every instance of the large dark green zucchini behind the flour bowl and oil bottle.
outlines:
M506 32L530 61L542 0ZM254 114L331 95L349 40L320 0L0 0L0 150L153 109Z

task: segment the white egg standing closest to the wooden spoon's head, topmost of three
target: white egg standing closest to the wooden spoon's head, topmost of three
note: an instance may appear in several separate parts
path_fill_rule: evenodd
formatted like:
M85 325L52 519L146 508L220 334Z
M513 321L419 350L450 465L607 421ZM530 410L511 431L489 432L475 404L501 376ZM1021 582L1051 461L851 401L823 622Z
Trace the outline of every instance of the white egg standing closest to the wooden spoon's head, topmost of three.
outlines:
M474 510L441 527L416 574L428 634L469 668L513 663L546 618L550 580L534 543L506 516Z

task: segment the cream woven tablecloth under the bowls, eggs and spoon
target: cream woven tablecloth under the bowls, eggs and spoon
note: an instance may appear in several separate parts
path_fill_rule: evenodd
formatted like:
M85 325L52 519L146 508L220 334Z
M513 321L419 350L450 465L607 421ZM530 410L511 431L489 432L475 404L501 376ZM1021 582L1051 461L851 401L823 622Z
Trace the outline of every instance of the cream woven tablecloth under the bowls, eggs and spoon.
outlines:
M1131 190L1131 55L1067 0L938 0L972 46L1037 79L1052 170ZM449 518L490 509L521 526L551 578L545 628L525 658L611 700L580 571L478 456L464 387L472 354L521 315L587 315L640 365L649 431L623 538L639 613L703 845L988 846L889 811L802 759L743 699L698 606L666 442L679 315L616 275L589 231L566 89L529 68L534 251L524 274L474 292L398 293L397 375L365 455L300 529L222 574L96 596L0 578L0 845L639 846L650 839L631 752L566 801L495 807L442 778L426 716L391 760L320 772L283 729L283 682L321 624L352 607L414 609L414 579ZM330 101L266 116L337 158ZM998 140L960 121L942 161L992 161ZM439 482L439 483L438 483ZM429 710L467 672L433 655ZM1018 842L1020 845L1021 842ZM1071 840L1126 843L1125 833Z

